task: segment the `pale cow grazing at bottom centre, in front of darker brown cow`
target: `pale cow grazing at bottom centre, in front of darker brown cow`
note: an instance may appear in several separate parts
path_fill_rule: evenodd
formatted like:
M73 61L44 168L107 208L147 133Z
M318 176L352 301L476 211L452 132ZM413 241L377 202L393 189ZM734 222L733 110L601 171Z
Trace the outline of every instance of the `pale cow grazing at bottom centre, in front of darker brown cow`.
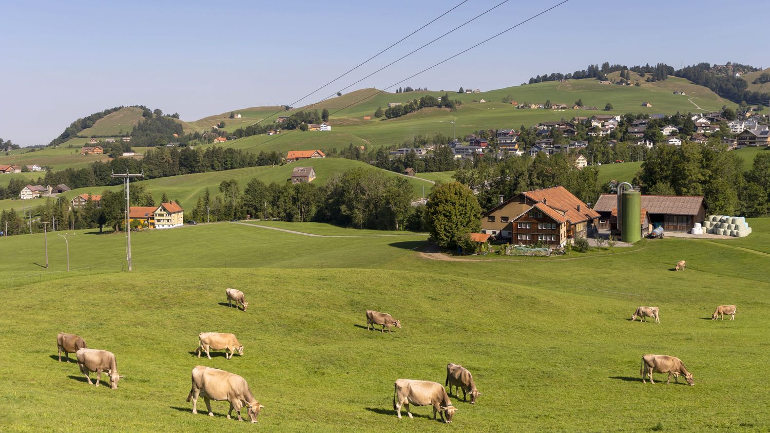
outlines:
M452 402L449 400L447 390L441 386L440 383L431 381L413 381L411 379L398 379L393 387L393 409L396 411L398 418L401 418L401 406L407 406L407 415L412 417L412 413L409 411L409 405L415 406L427 406L434 407L434 419L436 413L441 415L441 420L450 423L454 416L454 408ZM446 413L447 418L444 418Z

